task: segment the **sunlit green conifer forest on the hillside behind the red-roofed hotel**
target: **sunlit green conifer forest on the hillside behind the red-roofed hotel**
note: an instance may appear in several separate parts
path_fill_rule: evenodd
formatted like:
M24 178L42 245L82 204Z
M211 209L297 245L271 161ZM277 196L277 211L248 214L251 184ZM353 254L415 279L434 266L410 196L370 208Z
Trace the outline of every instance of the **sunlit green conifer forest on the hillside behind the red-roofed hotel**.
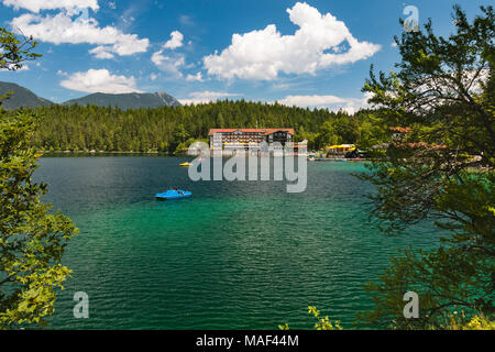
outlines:
M373 143L384 134L373 111L355 116L246 101L130 109L51 106L33 109L42 119L34 145L43 151L168 152L207 139L212 128L294 128L296 140L318 148L336 143Z

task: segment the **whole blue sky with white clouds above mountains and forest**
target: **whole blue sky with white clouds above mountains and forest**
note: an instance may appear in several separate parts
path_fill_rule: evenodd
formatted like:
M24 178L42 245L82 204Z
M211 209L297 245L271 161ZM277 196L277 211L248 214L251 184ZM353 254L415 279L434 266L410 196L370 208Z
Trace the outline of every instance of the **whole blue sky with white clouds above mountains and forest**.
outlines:
M491 1L0 0L0 25L40 41L43 57L1 72L62 102L90 92L166 91L184 103L216 99L364 107L370 65L393 69L398 19L452 30L452 6Z

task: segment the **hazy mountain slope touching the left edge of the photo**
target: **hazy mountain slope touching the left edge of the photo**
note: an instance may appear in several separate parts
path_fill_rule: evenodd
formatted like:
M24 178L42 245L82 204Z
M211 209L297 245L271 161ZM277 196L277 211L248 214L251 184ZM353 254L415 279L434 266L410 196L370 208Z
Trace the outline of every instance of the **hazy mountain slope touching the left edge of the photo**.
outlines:
M40 98L31 90L16 84L0 81L0 97L13 92L6 98L1 107L6 110L14 110L19 108L36 108L42 106L51 106L52 101Z

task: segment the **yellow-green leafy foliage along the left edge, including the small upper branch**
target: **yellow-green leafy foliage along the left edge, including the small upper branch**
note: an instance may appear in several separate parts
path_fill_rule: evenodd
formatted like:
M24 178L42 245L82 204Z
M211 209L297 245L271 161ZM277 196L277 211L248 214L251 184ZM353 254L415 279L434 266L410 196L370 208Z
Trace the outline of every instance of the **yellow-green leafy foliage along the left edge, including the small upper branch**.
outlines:
M0 69L19 69L37 57L31 53L35 44L0 28ZM61 261L77 230L67 217L50 212L40 200L46 185L32 179L40 157L31 147L37 120L0 108L0 330L44 324L70 273Z

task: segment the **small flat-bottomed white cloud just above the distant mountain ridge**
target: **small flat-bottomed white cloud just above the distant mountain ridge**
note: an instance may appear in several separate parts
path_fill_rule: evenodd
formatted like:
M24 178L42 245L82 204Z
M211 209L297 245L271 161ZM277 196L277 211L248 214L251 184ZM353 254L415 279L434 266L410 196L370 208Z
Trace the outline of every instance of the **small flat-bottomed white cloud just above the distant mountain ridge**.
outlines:
M125 94L141 92L135 88L135 78L112 75L108 69L89 69L86 73L75 73L61 81L67 89L84 92Z

